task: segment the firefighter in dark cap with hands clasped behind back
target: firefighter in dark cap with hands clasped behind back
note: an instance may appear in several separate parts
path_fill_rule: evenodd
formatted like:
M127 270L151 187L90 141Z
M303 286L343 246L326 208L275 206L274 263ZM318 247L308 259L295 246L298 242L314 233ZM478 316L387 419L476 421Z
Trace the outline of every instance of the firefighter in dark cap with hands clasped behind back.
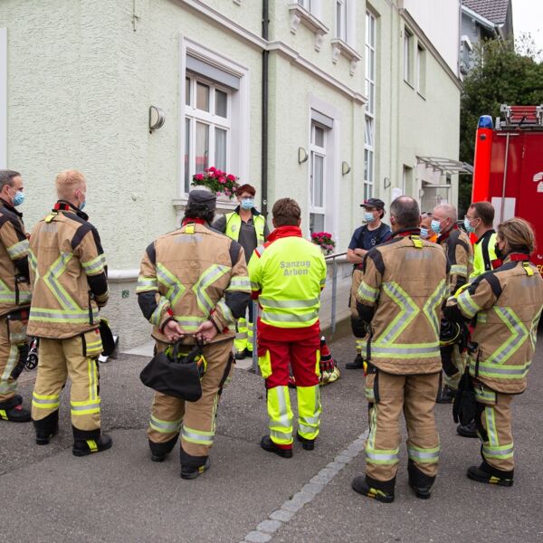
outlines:
M151 243L141 262L138 302L154 325L157 351L179 339L204 340L207 362L202 397L196 402L155 393L148 427L151 459L164 461L181 433L181 477L195 479L209 468L215 414L224 382L232 371L235 320L245 314L251 283L243 247L210 227L215 195L189 194L180 229ZM233 328L232 328L233 330Z

